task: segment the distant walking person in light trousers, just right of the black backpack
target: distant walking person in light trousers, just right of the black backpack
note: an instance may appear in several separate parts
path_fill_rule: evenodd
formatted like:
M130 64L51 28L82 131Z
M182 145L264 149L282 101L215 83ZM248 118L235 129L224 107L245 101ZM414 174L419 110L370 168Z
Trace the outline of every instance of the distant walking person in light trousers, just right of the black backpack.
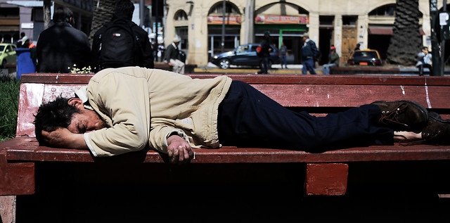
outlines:
M172 44L167 46L167 49L164 53L164 61L172 67L173 72L184 74L184 62L186 61L186 57L184 57L184 53L180 51L178 47L179 44L180 38L174 37Z

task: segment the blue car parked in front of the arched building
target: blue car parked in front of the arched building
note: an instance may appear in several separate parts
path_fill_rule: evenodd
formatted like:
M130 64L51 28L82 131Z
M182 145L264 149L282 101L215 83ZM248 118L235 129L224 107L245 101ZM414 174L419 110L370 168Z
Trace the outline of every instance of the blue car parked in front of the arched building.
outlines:
M222 69L228 69L230 65L248 65L261 67L260 58L256 55L256 49L259 44L245 44L240 45L233 51L220 53L212 58L211 63L218 65ZM274 63L280 63L278 57L278 49L271 46L271 53L269 58L269 68Z

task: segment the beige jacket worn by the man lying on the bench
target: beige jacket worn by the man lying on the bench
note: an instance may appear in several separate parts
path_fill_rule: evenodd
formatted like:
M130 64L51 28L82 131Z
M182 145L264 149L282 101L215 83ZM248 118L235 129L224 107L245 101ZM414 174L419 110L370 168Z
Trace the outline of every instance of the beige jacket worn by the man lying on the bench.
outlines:
M96 156L139 151L147 145L167 153L172 132L193 148L217 148L219 103L230 85L226 76L192 79L139 67L101 70L89 81L86 105L109 127L84 134L84 140Z

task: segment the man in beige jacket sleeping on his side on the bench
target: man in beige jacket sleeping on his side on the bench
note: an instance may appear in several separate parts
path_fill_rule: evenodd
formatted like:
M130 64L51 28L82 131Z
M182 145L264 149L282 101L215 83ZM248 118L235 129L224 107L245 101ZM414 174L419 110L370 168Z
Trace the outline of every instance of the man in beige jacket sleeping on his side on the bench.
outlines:
M326 117L284 108L249 84L226 76L191 79L139 67L101 70L75 98L39 107L39 144L119 155L143 148L187 163L193 149L258 146L321 148L450 144L450 125L413 101L375 101Z

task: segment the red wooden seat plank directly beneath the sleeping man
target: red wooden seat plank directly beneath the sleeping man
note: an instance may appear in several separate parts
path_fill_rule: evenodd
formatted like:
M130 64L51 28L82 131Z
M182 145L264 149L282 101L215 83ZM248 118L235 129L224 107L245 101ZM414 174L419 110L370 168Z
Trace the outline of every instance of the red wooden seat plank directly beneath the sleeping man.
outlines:
M8 160L94 162L89 151L39 146L36 139L27 136L16 137L4 144ZM195 148L192 163L342 163L389 160L450 160L449 146L369 146L346 148L324 153L292 151L289 148ZM134 157L133 157L134 156ZM120 160L120 156L115 157ZM136 152L122 155L124 160L139 160L143 163L164 163L155 151L145 154Z

